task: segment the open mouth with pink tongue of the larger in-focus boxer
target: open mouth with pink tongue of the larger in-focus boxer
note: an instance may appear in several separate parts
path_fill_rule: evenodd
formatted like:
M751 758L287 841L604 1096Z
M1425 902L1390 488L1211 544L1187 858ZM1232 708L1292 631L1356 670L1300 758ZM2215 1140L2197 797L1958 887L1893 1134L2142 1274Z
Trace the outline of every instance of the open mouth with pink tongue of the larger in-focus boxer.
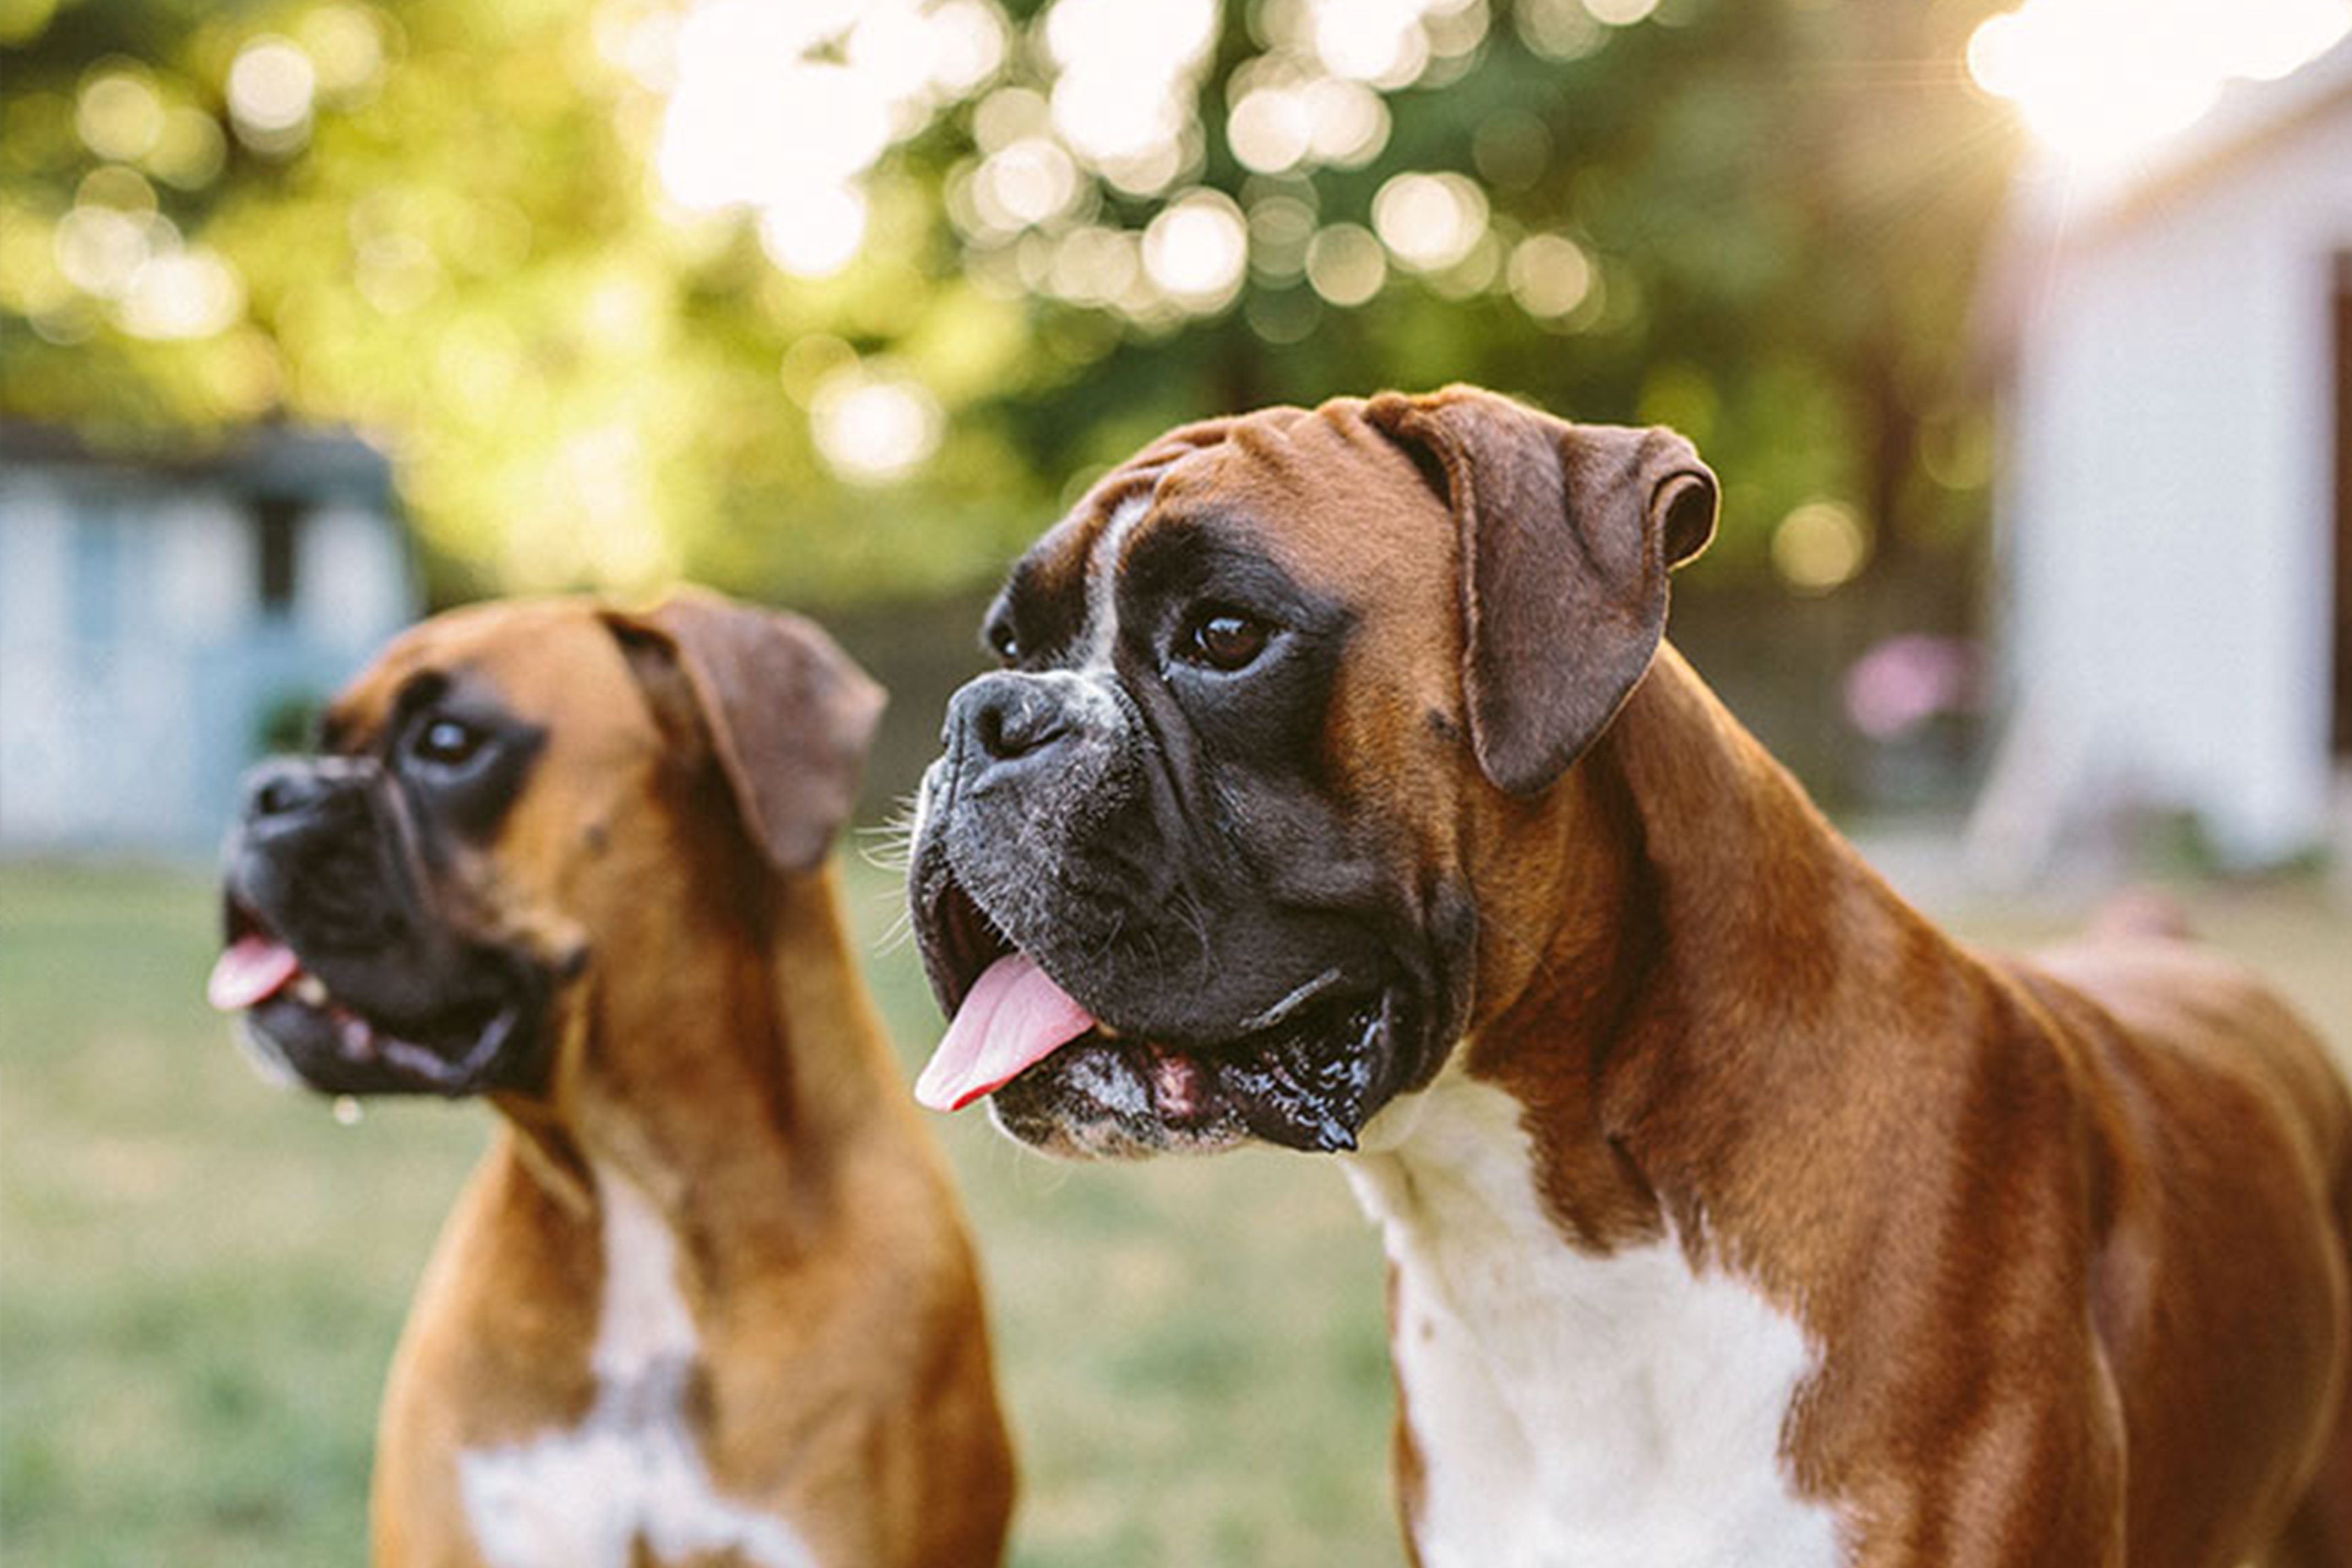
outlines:
M931 929L960 997L915 1084L922 1105L960 1110L997 1091L1021 1098L1051 1074L1061 1098L1080 1095L1129 1131L1155 1124L1190 1143L1256 1135L1296 1150L1355 1147L1392 997L1350 992L1338 971L1324 971L1223 1039L1162 1039L1098 1020L953 879L931 905Z

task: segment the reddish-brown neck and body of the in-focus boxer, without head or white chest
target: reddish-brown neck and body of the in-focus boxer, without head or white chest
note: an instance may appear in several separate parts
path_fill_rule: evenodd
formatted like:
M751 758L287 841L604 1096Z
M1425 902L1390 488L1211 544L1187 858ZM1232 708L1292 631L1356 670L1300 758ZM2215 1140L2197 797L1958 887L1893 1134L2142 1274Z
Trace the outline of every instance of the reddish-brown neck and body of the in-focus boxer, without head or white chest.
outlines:
M2352 1345L2352 1107L2310 1032L2169 940L1950 943L1672 651L1566 795L1555 827L1613 830L1496 856L1609 914L1489 992L1472 1070L1536 1110L1590 1241L1672 1218L1806 1326L1790 1460L1858 1561L2230 1568L2274 1540Z

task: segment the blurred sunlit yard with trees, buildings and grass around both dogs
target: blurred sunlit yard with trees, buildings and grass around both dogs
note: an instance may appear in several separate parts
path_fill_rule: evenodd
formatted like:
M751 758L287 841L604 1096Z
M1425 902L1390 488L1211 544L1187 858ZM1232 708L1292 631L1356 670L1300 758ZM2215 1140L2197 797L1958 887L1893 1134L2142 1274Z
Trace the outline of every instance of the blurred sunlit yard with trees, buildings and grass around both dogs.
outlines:
M1479 381L1684 430L1724 520L1672 635L1907 891L2072 917L2133 875L2284 877L2218 922L2352 1023L2321 891L2352 865L2347 31L2352 0L0 0L0 1032L40 1020L0 1093L0 1401L28 1345L82 1356L5 1410L9 1547L143 1514L59 1561L334 1559L473 1140L367 1300L334 1215L287 1213L332 1180L188 1175L278 1180L292 1114L186 1046L188 867L254 755L416 614L687 576L821 614L894 689L870 823L1007 559L1211 411ZM125 858L179 870L92 870ZM167 950L195 973L122 978ZM181 1147L191 1095L219 1121ZM1136 1361L1018 1392L1018 1561L1381 1561L1376 1284L1301 1352L1362 1443L1310 1394L1244 1420L1312 1366L1265 1300L1263 1342L1216 1338L1251 1302L1192 1291L1256 1286L1169 1262L1195 1211L1056 1211L983 1143L950 1150L1000 1269L1098 1244L1160 1314ZM1298 1227L1374 1274L1265 1171L1167 1180L1235 1180L1256 1255ZM282 1300L191 1241L238 1215L242 1255L318 1237ZM99 1225L139 1241L85 1255ZM219 1309L181 1328L151 1258ZM263 1319L296 1371L235 1328ZM1094 1328L1007 1324L1056 1352L1028 1368ZM334 1399L303 1354L343 1356Z

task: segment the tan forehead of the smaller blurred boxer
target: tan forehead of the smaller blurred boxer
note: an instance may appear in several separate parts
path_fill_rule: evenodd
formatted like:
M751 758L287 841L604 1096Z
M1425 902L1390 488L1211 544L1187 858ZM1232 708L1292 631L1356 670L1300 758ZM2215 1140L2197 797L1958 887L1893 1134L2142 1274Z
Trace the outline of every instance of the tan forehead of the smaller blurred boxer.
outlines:
M475 604L386 644L327 705L322 738L329 750L372 745L400 715L452 693L522 719L546 719L560 703L628 710L626 686L628 665L593 602Z

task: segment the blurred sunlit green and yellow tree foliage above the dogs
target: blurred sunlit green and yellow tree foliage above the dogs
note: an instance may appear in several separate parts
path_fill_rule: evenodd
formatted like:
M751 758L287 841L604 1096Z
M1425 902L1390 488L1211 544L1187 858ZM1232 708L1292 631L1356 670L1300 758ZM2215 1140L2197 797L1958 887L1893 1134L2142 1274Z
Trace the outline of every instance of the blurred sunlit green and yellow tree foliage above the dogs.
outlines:
M1985 9L0 0L0 409L362 425L442 597L847 602L1167 423L1465 378L1693 435L1710 576L1828 505L1816 585L1959 581Z

